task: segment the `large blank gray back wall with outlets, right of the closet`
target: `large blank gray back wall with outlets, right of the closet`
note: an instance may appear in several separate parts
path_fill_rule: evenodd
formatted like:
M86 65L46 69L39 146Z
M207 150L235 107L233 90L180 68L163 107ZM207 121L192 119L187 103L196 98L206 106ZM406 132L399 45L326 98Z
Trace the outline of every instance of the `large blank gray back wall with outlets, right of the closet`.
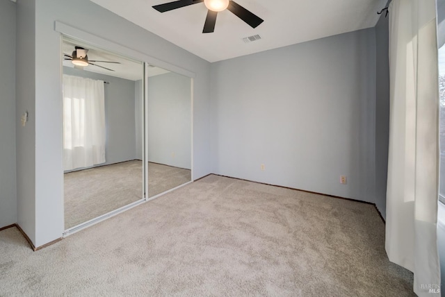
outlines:
M211 81L214 172L374 202L373 28L216 62Z

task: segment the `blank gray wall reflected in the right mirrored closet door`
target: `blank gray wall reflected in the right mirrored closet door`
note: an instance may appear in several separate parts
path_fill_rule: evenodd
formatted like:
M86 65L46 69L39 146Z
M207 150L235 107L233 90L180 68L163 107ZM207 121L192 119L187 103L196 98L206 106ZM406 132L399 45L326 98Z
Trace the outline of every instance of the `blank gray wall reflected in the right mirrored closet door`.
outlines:
M191 169L191 79L148 78L148 161Z

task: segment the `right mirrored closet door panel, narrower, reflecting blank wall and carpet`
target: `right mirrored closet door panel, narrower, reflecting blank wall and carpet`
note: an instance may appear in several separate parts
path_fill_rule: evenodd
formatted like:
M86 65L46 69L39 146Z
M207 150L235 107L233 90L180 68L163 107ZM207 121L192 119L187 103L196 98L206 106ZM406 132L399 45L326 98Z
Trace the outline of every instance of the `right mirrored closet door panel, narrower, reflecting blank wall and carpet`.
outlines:
M192 80L147 66L148 197L191 181Z

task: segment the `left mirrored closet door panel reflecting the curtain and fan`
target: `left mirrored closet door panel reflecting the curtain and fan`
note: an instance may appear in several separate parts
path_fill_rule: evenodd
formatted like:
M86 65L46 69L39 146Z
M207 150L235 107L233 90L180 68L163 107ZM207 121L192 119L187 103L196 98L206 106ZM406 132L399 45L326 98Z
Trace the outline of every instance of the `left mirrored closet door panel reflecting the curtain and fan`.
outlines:
M144 198L143 62L63 38L65 230Z

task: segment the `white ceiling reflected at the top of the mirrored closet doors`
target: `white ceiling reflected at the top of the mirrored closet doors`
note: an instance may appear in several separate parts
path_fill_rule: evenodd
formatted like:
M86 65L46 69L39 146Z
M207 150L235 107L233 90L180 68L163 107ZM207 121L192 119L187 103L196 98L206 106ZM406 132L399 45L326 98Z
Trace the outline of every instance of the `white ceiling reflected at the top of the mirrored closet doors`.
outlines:
M129 58L125 58L115 53L111 53L104 49L98 49L95 46L91 46L86 44L85 42L81 42L79 40L72 40L69 37L65 37L63 39L62 51L70 56L72 56L72 51L74 51L74 46L81 46L84 49L88 49L88 60L101 60L101 61L113 61L120 62L120 64L114 63L105 63L105 62L93 62L96 65L103 66L109 69L113 69L114 71L110 71L107 69L103 69L100 67L96 67L95 65L88 65L87 67L83 67L85 71L91 71L99 74L106 74L109 76L115 76L119 78L125 78L128 80L140 80L143 79L143 64L142 62L138 62L135 60L131 60ZM74 67L70 60L63 60L63 66L66 67ZM156 76L159 74L166 74L170 71L149 66L147 69L148 76Z

